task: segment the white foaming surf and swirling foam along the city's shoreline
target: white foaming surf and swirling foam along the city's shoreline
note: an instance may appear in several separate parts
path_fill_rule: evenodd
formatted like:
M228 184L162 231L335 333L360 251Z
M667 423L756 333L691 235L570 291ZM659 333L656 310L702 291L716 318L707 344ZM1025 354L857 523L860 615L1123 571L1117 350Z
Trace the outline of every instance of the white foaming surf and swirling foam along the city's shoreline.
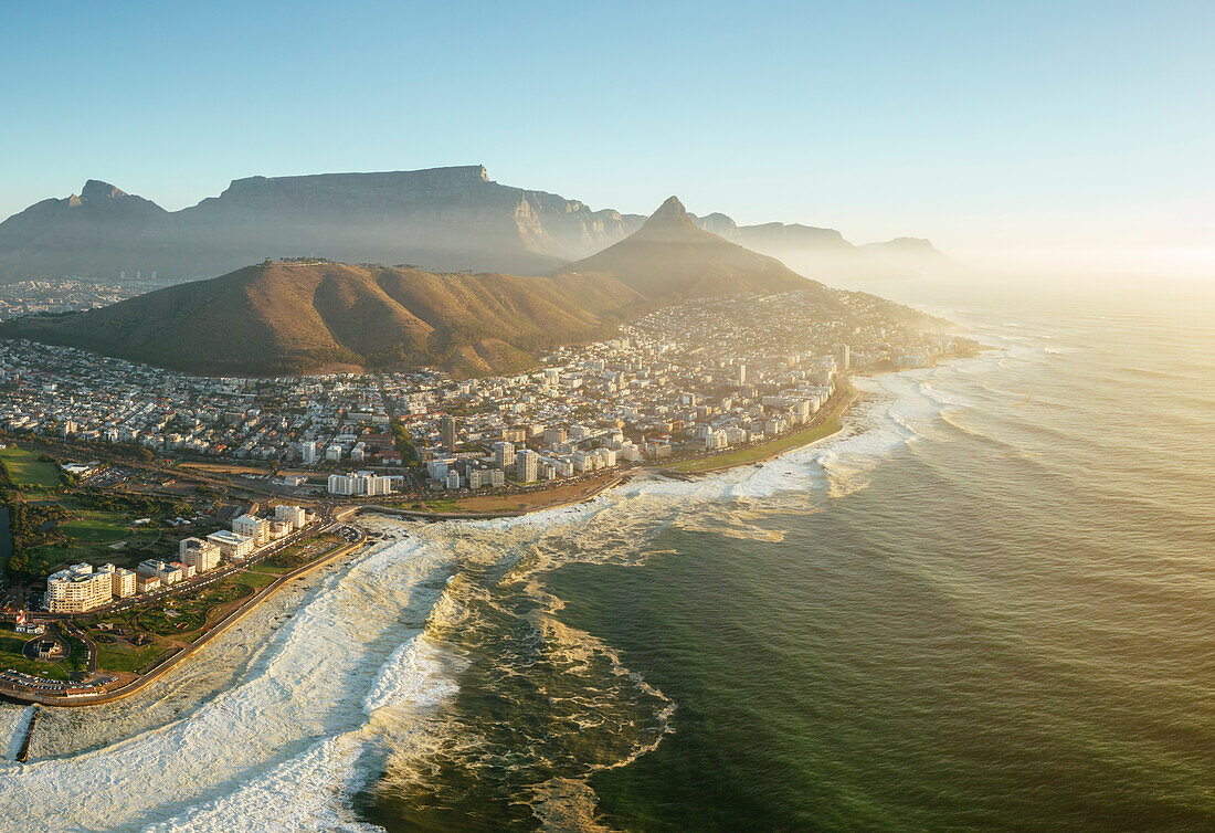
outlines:
M667 528L778 541L782 533L767 523L774 512L820 511L868 485L900 446L946 439L943 413L974 406L963 390L974 366L991 372L990 361L859 379L871 399L847 430L753 467L688 482L638 478L521 518L364 518L384 541L327 568L294 613L267 604L262 630L242 626L216 641L219 652L225 641L247 646L230 687L108 748L5 767L7 821L362 831L354 793L382 772L396 787L433 787L436 760L519 769L542 823L593 818L587 778L656 748L676 705L610 646L564 626L543 578L575 562L644 564ZM514 686L537 663L556 675L544 700L556 722L543 742L495 743L495 727L453 717L465 676L504 700L532 697ZM575 741L587 736L603 738L601 760L580 760ZM539 777L554 766L560 776Z

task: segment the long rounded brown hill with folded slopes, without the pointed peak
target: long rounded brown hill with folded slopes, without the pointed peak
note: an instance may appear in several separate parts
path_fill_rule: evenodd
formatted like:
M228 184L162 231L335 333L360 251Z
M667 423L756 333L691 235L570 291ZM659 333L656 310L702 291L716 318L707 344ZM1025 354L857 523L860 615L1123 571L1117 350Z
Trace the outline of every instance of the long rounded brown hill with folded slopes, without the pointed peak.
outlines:
M271 263L87 313L21 319L0 337L210 375L434 364L476 376L520 370L539 349L594 337L640 300L601 276Z

